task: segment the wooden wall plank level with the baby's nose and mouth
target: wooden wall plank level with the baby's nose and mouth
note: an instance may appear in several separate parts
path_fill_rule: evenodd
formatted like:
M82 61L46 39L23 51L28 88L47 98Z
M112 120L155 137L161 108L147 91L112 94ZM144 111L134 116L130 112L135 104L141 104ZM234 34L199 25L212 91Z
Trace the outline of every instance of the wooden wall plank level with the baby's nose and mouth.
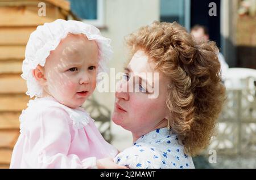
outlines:
M22 79L19 74L0 76L0 87L0 94L27 92L26 80Z

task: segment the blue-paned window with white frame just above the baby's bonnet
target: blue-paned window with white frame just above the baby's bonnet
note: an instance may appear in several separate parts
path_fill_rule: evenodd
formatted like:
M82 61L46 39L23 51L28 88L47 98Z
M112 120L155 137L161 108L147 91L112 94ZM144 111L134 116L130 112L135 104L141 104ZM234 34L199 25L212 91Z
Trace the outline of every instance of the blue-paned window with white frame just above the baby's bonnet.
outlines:
M82 22L95 25L98 28L105 26L104 0L69 0L71 3L71 11Z

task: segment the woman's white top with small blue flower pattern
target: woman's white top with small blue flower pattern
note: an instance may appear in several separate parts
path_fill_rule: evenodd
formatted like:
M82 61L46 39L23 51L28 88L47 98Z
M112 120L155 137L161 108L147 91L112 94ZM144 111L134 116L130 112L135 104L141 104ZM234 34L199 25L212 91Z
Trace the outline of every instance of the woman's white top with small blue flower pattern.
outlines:
M139 138L132 147L115 157L118 165L129 168L195 168L191 156L184 153L177 135L168 128L159 128Z

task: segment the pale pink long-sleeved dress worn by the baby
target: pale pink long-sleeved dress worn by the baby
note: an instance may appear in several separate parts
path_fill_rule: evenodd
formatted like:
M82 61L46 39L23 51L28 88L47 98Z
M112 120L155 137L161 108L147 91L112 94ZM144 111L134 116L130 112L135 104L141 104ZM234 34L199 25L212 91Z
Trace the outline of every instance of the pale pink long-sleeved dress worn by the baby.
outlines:
M30 100L20 115L20 135L10 168L97 168L96 159L114 157L94 120L52 97Z

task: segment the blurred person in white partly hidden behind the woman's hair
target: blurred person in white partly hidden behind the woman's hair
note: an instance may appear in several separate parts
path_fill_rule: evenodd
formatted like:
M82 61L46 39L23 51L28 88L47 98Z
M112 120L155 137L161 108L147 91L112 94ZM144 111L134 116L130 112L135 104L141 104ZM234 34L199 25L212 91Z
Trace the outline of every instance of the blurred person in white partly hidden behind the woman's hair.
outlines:
M191 35L195 37L195 40L198 44L201 42L209 41L209 32L208 28L204 25L195 25L191 29ZM221 78L225 80L226 72L228 71L229 65L226 63L224 56L221 53L218 53L218 61L221 64Z

